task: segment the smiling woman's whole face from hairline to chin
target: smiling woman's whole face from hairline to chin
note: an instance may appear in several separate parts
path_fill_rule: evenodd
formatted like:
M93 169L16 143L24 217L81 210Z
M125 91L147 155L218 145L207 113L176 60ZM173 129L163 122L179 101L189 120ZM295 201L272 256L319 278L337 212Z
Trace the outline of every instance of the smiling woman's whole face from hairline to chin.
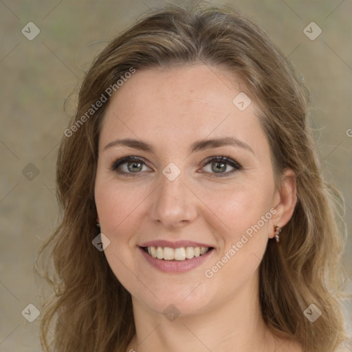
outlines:
M205 65L137 71L104 117L95 186L104 254L148 311L249 299L274 236L270 147L254 103L234 100L240 89L227 77Z

